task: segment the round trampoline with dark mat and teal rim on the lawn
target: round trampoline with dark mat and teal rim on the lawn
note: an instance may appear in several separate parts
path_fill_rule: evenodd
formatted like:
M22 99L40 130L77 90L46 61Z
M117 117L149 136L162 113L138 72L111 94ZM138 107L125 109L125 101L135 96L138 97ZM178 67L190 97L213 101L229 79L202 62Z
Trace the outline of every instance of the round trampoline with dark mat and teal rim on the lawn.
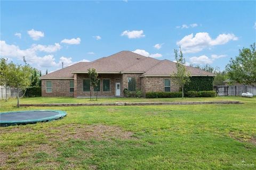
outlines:
M49 122L52 120L62 119L66 115L66 111L61 110L28 110L2 112L0 114L0 126Z

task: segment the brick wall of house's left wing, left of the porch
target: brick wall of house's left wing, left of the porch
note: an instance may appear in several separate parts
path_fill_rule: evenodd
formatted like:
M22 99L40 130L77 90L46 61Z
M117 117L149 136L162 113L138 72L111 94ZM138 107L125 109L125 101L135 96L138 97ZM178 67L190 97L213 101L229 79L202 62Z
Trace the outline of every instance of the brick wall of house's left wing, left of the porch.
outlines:
M70 80L71 79L42 79L42 96L43 97L58 97L58 96L73 97L74 92L69 92ZM46 93L46 81L52 82L52 93Z

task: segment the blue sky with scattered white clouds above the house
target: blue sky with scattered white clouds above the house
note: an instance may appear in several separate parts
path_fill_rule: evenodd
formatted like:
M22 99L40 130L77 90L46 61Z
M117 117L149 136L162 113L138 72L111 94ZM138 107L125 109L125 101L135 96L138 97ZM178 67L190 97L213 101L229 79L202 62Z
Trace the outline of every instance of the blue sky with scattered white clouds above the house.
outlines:
M1 1L1 57L42 71L129 50L224 69L256 42L255 1Z

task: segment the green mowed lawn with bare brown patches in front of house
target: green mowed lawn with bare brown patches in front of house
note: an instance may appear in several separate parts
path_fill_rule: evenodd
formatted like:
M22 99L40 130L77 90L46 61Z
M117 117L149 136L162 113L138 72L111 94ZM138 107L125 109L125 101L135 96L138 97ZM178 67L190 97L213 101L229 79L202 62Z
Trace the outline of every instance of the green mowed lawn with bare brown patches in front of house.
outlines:
M26 107L1 101L1 111L57 109L49 123L0 127L1 169L255 169L256 98L99 99L98 102L220 101L244 104L119 107ZM21 103L89 99L28 98Z

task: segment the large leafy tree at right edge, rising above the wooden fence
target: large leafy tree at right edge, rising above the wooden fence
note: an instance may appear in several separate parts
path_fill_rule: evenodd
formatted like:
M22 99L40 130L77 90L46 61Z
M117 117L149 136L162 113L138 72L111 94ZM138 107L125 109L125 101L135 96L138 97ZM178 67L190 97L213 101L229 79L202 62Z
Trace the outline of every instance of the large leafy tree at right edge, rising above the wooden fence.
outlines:
M250 48L239 50L239 55L235 59L231 58L226 70L229 79L233 82L247 85L256 84L256 44Z

